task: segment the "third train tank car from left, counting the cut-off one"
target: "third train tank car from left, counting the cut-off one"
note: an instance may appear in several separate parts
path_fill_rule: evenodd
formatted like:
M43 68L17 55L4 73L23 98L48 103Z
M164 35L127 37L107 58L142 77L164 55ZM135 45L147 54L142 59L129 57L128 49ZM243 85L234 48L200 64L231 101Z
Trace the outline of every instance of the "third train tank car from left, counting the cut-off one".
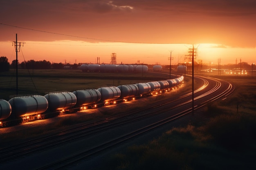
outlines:
M49 110L62 110L76 105L76 95L71 92L52 92L45 95Z

